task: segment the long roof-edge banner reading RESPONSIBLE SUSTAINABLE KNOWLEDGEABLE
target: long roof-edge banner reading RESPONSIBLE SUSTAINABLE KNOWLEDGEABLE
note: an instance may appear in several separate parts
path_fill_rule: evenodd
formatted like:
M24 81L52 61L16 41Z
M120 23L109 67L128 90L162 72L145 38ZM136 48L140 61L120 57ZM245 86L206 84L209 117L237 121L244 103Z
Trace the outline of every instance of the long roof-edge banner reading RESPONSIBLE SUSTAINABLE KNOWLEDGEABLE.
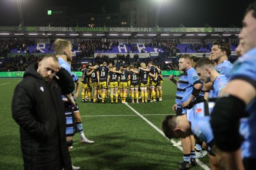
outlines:
M7 32L234 32L239 33L242 28L228 27L11 27L0 26L0 31Z

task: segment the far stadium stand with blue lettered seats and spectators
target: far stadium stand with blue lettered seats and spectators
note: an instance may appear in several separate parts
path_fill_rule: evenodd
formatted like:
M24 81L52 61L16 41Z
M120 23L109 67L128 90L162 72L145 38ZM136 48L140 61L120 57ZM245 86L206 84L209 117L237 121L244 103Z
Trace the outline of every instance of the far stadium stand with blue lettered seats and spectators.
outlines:
M51 41L52 42L52 41ZM31 62L36 62L39 57L53 53L52 43L35 43L29 39L0 39L0 71L24 71ZM168 56L177 56L177 53L210 53L211 43L177 43L176 40L156 39L152 43L123 43L115 41L101 41L98 39L74 41L72 71L80 71L86 62L112 62L117 67L120 64L148 63L152 60L159 63L162 70L178 70L177 60L164 62ZM236 49L237 42L231 43L232 51ZM141 53L159 52L158 57L140 57ZM7 57L12 53L15 57ZM36 55L37 53L37 55ZM96 57L94 53L97 53ZM102 54L104 53L104 54ZM109 57L108 53L115 54ZM94 59L94 60L93 60ZM236 56L230 56L234 62Z

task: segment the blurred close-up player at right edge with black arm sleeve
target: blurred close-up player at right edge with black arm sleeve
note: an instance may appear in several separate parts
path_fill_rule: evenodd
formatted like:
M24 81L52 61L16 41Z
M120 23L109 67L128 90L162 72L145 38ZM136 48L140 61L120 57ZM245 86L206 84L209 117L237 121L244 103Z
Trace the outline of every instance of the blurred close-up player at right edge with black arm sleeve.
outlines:
M256 1L246 10L239 38L243 39L245 53L234 64L214 106L211 127L216 156L224 169L255 169Z

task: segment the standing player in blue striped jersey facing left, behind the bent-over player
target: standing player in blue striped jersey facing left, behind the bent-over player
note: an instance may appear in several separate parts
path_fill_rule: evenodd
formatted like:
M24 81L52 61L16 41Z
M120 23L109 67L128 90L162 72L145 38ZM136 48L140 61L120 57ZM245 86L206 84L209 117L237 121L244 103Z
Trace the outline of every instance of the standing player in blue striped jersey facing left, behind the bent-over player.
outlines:
M180 76L179 81L171 79L173 83L177 85L177 93L175 97L175 104L173 105L173 111L176 111L176 115L186 114L187 107L192 101L204 99L204 96L200 96L202 89L202 81L198 79L198 74L192 66L192 60L189 55L183 55L179 59L179 69L184 71ZM183 148L184 162L180 169L188 169L191 165L196 165L195 160L195 139L193 135L181 139ZM191 163L190 163L191 162Z

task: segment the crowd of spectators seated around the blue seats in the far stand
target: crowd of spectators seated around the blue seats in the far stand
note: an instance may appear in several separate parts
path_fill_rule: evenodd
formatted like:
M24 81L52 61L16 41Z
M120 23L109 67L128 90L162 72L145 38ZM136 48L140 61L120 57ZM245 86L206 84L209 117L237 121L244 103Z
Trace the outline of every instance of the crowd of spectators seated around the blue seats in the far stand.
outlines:
M234 41L232 44L237 45L238 41ZM35 41L31 41L29 39L0 39L0 57L5 57L4 64L0 65L0 71L25 71L29 64L32 62L37 62L39 57L45 55L33 55L27 53L23 55L16 55L15 57L7 57L7 53L10 52L12 48L17 48L18 50L22 51L27 50L29 45L35 45ZM81 59L92 57L94 52L97 50L103 52L106 50L111 50L114 45L119 45L119 43L115 41L104 42L97 39L72 43L73 49L80 51L80 53L73 57L72 71L81 71L83 67L79 62ZM147 64L152 60L154 63L159 64L159 67L162 70L179 70L177 62L163 62L166 57L176 55L176 53L179 52L179 49L176 47L177 41L175 39L156 39L153 43L145 43L145 46L156 46L157 48L162 48L164 50L162 53L163 56L152 58L145 57L141 59L141 57L139 57L140 53L132 53L132 55L130 55L130 53L117 53L115 57L109 58L108 55L98 53L97 57L94 59L94 62L99 64L102 62L112 62L117 68L119 68L121 64L133 64L134 66L140 66L141 62L145 62ZM200 47L208 49L209 45L207 43L202 43L201 45L191 44L188 46L188 48L195 51L200 49ZM237 59L237 57L230 58L231 62L234 62Z

